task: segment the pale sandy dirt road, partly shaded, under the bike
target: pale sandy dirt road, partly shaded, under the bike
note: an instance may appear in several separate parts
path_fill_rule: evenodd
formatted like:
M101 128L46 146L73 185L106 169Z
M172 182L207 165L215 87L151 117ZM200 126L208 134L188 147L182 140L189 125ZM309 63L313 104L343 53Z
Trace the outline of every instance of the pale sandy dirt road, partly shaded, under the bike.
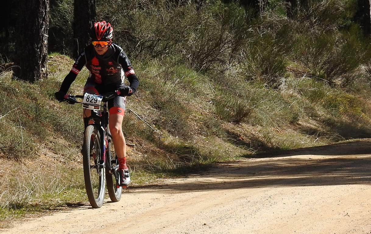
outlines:
M371 142L221 164L0 233L371 233Z

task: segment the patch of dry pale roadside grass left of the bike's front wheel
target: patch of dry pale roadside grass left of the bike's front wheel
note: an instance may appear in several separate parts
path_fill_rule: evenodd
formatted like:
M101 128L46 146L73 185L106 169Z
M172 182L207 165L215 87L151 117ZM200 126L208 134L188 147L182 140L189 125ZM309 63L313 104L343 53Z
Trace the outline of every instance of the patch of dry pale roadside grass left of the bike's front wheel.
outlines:
M3 178L0 221L86 200L82 169L66 169L63 164L37 167L33 162L19 163Z

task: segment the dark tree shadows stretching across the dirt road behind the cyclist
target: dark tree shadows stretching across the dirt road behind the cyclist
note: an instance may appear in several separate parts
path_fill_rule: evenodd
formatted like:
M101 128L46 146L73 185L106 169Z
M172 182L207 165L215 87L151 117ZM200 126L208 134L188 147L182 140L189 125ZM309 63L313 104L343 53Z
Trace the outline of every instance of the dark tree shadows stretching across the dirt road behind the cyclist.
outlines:
M371 184L369 154L371 142L368 141L297 149L285 155L275 155L275 158L271 159L223 164L205 174L194 175L184 180L178 179L176 183L143 188L150 189L150 192L189 192L280 186ZM148 190L139 189L135 192Z

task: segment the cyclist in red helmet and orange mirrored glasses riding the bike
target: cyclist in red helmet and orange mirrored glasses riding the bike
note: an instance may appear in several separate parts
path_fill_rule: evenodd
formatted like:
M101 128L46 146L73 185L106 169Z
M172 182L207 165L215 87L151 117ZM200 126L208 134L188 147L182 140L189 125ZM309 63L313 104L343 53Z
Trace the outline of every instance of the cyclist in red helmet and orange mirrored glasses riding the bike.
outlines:
M128 187L131 183L129 170L126 163L126 142L122 132L122 120L125 113L125 96L131 96L138 89L139 80L135 75L130 60L125 52L112 42L113 28L105 20L96 22L91 31L92 43L85 46L73 64L72 69L65 77L55 98L64 100L72 82L84 65L90 71L84 86L84 93L95 94L121 91L120 96L108 101L109 130L113 138L115 151L119 161L119 185ZM130 86L125 86L125 76ZM85 128L93 123L89 117L90 109L83 109Z

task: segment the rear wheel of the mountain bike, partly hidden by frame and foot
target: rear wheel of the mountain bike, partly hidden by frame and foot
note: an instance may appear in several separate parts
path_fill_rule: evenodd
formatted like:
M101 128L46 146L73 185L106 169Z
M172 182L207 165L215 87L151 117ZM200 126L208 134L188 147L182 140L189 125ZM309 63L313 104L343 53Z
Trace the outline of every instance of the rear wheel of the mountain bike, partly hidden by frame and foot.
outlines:
M107 132L110 133L109 126L107 126ZM107 136L107 138L109 138L109 136ZM115 149L113 146L112 139L111 139L111 142L108 142L106 159L110 159L111 162L113 162L114 160L117 160L117 156L115 154ZM115 167L116 165L118 164L117 163L112 164L112 167ZM106 174L106 183L107 183L107 190L108 190L109 198L111 199L112 202L118 202L121 199L122 187L119 187L119 188L116 187L116 183L117 183L116 177L113 173Z

